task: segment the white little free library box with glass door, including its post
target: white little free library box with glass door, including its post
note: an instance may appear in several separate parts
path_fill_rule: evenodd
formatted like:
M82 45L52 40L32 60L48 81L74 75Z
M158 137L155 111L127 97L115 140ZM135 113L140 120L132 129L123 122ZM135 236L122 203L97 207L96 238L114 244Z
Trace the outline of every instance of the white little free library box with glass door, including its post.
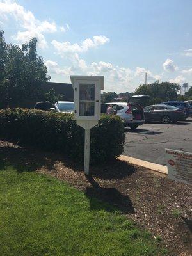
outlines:
M84 173L89 174L90 129L100 120L103 76L70 76L74 88L74 119L84 128Z

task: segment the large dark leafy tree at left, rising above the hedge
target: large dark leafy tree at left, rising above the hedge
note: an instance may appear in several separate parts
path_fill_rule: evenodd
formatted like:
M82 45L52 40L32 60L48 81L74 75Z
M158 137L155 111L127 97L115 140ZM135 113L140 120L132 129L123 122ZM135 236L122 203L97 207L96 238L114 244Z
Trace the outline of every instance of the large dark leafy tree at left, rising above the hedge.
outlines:
M4 107L11 102L37 99L44 96L41 85L49 81L44 60L36 52L37 39L28 44L6 44L0 31L0 97Z

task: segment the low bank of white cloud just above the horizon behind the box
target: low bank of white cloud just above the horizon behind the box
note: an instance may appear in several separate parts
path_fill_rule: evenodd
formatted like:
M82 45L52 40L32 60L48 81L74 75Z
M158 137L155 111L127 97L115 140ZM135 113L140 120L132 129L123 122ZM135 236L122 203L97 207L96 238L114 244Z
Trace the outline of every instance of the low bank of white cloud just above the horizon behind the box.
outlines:
M86 63L77 53L72 54L70 58L70 65L67 67L60 67L55 61L45 61L49 74L54 79L61 75L62 81L70 83L69 76L71 74L79 75L95 75L104 76L105 90L120 92L133 92L140 83L144 83L145 72L147 72L147 81L152 83L153 81L162 79L159 75L154 75L150 70L146 70L142 67L137 67L136 70L131 70L126 67L119 67L109 62L99 61ZM141 82L140 80L141 79ZM177 76L175 79L171 79L171 83L182 84L186 81L184 76Z

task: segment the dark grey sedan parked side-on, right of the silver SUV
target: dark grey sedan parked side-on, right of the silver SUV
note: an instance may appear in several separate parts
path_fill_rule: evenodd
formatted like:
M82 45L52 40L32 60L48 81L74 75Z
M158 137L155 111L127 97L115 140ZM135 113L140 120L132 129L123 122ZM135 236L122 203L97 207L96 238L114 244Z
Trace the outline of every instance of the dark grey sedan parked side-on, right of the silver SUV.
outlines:
M186 113L184 109L179 109L169 105L151 105L144 108L145 122L158 121L164 124L174 124L177 121L186 120Z

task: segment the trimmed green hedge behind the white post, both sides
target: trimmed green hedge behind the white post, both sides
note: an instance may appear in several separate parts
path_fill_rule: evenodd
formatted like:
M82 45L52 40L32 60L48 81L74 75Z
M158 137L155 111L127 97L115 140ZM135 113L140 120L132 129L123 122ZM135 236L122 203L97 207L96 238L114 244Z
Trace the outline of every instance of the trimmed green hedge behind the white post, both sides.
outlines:
M82 161L84 130L68 113L35 109L0 111L0 138L33 146ZM118 116L102 115L91 130L90 160L101 163L119 156L124 146L124 125Z

